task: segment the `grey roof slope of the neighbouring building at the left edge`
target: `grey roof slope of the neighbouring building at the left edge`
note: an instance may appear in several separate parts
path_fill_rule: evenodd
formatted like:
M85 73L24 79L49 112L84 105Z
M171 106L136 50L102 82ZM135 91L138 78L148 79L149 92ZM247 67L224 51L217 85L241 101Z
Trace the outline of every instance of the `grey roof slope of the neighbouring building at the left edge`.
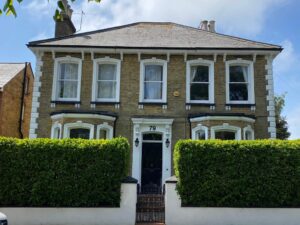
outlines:
M0 89L25 68L25 63L0 63Z

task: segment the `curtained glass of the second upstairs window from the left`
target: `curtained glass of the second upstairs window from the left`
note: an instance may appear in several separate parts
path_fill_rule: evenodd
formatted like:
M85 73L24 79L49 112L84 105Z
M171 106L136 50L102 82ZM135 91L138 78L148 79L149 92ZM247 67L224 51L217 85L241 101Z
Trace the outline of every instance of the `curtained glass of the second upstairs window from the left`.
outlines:
M116 98L117 67L113 64L101 64L98 67L97 98Z

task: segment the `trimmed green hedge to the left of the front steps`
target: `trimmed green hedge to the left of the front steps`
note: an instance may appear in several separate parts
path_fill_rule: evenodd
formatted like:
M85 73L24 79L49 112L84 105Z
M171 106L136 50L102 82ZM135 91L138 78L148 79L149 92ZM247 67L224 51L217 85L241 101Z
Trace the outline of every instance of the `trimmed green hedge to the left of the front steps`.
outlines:
M129 144L0 138L0 206L119 206Z

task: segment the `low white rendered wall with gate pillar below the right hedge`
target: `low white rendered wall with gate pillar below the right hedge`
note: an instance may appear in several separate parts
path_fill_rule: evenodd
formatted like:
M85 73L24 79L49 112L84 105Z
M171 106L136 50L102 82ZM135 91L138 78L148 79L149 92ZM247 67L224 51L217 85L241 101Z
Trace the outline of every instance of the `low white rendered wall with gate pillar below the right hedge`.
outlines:
M300 209L181 207L176 183L166 183L167 225L299 225Z

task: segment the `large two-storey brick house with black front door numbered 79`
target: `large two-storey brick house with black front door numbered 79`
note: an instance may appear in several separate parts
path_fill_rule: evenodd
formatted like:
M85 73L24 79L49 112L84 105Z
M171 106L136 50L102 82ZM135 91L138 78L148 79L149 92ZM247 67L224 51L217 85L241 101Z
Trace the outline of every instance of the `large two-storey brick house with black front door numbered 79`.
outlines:
M74 34L71 10L37 58L31 138L112 138L132 147L142 189L172 175L179 139L276 138L272 61L282 48L141 22Z

